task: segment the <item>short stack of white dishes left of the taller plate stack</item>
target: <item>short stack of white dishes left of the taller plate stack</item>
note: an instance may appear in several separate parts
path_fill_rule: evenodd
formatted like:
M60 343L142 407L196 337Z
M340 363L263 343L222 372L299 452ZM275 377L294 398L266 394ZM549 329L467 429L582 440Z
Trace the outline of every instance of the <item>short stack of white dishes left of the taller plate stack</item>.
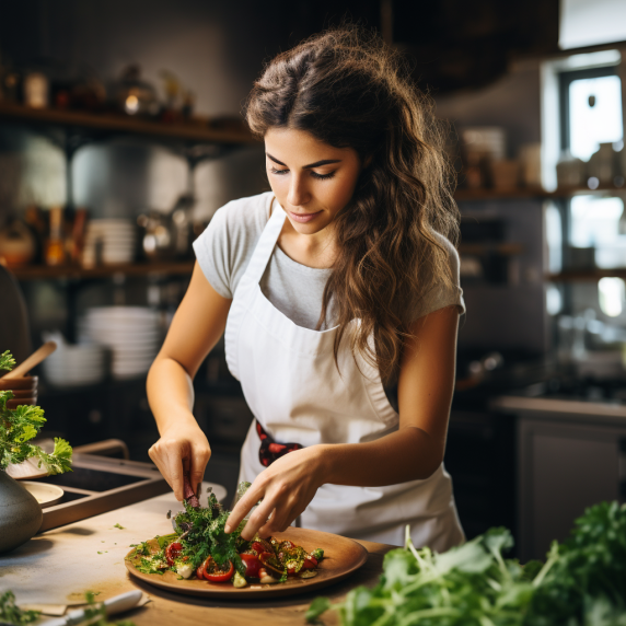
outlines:
M46 380L54 386L92 385L106 376L106 351L103 346L57 344L58 348L44 361Z

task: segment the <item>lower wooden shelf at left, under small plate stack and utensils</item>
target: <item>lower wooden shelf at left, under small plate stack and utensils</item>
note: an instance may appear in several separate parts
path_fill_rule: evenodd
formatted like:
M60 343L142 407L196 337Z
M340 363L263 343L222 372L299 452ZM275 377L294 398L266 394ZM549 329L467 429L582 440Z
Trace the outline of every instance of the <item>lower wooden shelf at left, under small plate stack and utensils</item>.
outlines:
M170 276L190 276L194 270L193 260L142 263L127 265L98 265L92 268L78 265L48 267L31 265L11 268L18 280L55 280L109 278L113 276L152 276L166 274Z

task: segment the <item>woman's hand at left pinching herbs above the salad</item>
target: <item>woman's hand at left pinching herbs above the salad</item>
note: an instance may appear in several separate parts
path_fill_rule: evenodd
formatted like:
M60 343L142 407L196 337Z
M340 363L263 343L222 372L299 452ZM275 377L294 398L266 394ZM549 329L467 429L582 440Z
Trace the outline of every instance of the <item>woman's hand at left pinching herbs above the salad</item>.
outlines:
M211 457L211 448L205 433L194 421L170 427L150 448L148 454L172 487L176 500L182 501L184 475L189 475L189 483L197 494Z

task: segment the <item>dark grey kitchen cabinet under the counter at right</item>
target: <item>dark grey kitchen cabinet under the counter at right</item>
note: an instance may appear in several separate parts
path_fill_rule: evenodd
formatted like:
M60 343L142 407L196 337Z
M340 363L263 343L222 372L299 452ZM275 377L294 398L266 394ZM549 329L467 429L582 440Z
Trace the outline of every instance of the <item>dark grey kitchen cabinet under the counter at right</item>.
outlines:
M580 416L578 416L580 420ZM553 540L565 540L587 507L624 498L626 420L610 425L518 418L519 556L544 558Z

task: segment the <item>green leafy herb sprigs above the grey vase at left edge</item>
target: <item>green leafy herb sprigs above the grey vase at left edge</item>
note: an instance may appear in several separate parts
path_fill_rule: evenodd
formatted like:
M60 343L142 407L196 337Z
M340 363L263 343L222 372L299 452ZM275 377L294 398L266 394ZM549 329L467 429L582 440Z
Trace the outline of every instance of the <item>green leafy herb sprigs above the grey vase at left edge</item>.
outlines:
M0 370L11 371L15 359L7 350L0 355ZM0 391L0 470L4 471L11 464L22 463L27 459L38 460L38 466L49 475L71 472L71 445L59 437L55 437L55 449L51 454L38 445L30 443L36 437L46 418L39 406L18 406L7 408L7 403L13 397L10 391Z

